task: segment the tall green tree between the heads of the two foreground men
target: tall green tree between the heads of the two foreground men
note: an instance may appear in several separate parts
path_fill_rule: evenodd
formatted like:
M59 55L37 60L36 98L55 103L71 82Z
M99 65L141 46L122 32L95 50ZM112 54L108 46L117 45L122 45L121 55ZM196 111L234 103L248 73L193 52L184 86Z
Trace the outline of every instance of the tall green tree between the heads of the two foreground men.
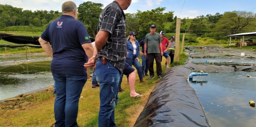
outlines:
M84 2L78 6L78 19L87 26L87 30L90 30L94 37L96 36L98 20L102 8L102 3L94 3L91 1Z

